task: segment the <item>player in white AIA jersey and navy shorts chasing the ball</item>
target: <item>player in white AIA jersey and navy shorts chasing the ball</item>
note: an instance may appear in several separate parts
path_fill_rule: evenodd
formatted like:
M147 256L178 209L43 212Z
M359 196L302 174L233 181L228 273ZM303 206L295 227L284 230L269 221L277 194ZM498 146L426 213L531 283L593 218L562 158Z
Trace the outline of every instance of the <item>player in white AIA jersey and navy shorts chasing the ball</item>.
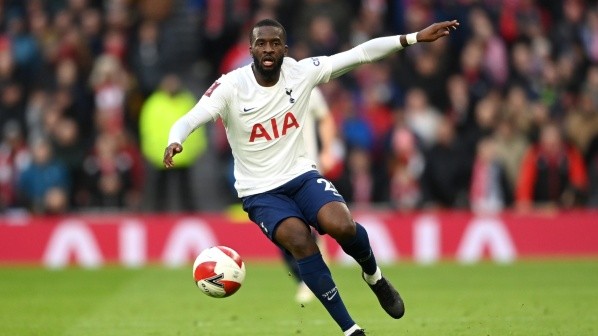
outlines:
M301 279L344 335L365 335L336 288L309 226L336 240L362 268L362 277L393 318L403 300L382 276L368 234L356 223L334 185L307 157L302 127L312 89L416 42L447 36L459 23L434 23L417 33L376 38L332 56L301 61L286 57L286 31L276 20L256 23L249 36L253 63L223 75L170 130L164 165L197 127L222 118L234 157L235 189L249 218L297 261Z

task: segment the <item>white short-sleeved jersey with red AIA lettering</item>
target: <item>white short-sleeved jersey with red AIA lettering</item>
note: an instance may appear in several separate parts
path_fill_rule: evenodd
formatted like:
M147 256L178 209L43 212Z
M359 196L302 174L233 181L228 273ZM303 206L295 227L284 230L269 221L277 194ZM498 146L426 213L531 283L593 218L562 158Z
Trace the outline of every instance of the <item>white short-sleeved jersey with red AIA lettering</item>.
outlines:
M312 89L330 78L326 61L327 57L300 62L287 57L280 79L271 87L259 85L248 65L220 77L197 103L212 119L222 118L239 197L274 189L316 169L302 129Z

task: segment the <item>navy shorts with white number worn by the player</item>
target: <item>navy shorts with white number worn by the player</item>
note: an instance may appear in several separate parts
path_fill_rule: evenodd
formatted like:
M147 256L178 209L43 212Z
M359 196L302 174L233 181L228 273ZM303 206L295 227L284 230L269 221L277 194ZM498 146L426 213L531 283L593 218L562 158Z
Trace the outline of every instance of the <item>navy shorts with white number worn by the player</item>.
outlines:
M313 170L278 188L243 197L243 210L274 241L276 227L289 217L297 217L320 234L324 233L318 225L318 211L333 201L345 203L334 185Z

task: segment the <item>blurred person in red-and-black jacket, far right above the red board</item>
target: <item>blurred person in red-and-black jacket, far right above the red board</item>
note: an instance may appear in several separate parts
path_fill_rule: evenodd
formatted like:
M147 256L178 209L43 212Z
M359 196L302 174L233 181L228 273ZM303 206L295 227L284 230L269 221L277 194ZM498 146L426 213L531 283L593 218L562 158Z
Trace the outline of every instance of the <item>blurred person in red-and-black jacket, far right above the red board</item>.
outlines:
M580 204L586 190L586 167L579 150L565 143L556 124L545 125L521 165L518 209L572 207Z

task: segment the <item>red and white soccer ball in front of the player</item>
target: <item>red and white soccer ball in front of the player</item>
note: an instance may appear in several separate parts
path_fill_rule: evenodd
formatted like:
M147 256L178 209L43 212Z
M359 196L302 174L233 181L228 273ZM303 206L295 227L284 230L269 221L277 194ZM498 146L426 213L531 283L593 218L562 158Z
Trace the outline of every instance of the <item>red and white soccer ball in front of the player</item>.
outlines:
M203 250L193 263L193 280L201 291L214 298L235 294L245 279L245 263L230 247Z

